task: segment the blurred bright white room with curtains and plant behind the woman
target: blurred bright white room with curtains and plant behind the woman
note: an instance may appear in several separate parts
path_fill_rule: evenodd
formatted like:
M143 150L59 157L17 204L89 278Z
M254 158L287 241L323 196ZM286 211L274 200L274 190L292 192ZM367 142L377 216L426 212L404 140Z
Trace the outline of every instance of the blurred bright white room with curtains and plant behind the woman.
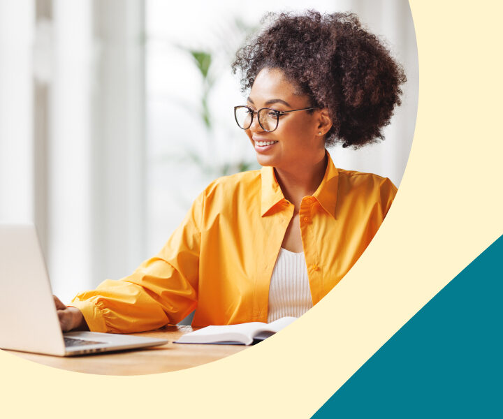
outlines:
M230 64L269 11L352 11L408 82L386 140L335 165L407 164L418 101L405 0L0 0L0 221L34 221L64 302L159 251L215 177L258 168Z

